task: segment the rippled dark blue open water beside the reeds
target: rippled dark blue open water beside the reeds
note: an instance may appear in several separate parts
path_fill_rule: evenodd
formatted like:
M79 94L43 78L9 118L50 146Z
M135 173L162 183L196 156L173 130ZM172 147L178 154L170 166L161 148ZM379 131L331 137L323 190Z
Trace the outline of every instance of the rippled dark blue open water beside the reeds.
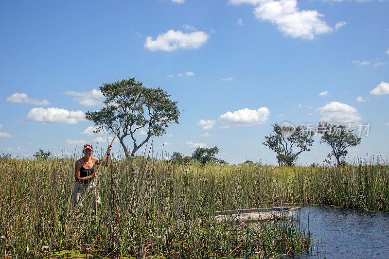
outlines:
M389 258L389 213L302 207L303 225L308 215L315 246L297 258Z

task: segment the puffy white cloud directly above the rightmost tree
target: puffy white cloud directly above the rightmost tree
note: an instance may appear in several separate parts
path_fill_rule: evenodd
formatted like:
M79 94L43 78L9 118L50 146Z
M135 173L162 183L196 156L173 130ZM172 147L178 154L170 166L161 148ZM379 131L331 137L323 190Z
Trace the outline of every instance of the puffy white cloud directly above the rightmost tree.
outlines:
M318 108L323 121L329 121L334 123L349 123L359 122L362 117L358 113L358 110L348 104L342 104L339 102L331 102Z

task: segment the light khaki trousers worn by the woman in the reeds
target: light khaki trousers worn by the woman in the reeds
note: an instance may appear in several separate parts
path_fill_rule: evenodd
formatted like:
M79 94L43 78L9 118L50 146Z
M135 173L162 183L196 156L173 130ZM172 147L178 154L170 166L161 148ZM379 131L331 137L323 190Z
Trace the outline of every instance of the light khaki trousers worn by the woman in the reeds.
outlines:
M92 199L93 205L100 205L99 191L96 188L94 181L87 183L76 182L71 199L74 207L83 206L82 202L86 199Z

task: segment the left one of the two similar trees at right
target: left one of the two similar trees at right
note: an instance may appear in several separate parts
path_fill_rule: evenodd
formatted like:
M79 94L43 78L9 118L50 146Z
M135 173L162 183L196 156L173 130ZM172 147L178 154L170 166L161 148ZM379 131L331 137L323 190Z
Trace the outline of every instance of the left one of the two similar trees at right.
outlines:
M277 156L279 165L291 166L296 161L301 152L310 151L309 147L315 141L314 132L307 131L306 127L298 126L297 128L290 125L280 126L277 123L273 124L274 135L265 136L265 146L274 151ZM293 146L299 149L294 150Z

